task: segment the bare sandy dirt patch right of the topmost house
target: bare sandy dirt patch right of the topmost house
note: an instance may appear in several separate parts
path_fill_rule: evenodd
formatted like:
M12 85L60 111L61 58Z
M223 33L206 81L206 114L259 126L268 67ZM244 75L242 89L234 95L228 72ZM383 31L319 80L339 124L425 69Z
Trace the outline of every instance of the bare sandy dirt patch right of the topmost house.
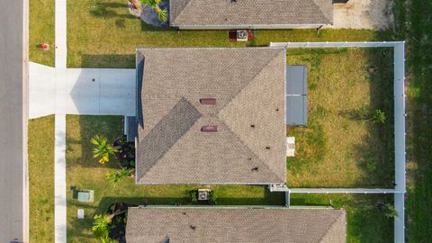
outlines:
M387 30L393 26L393 0L349 0L333 4L331 29Z

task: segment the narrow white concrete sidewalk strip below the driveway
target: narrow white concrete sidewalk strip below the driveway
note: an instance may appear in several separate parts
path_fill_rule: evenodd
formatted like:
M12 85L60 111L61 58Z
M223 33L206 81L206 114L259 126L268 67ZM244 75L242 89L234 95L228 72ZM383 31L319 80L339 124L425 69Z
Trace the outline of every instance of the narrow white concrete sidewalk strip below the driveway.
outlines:
M54 144L54 239L66 243L66 115L55 116Z

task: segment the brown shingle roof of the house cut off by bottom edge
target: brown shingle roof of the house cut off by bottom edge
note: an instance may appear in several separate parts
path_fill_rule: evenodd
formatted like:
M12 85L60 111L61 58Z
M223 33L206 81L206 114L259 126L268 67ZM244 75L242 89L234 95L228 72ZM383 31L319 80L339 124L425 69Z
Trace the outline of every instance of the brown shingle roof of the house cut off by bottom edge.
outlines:
M126 241L346 242L346 211L333 209L130 208Z

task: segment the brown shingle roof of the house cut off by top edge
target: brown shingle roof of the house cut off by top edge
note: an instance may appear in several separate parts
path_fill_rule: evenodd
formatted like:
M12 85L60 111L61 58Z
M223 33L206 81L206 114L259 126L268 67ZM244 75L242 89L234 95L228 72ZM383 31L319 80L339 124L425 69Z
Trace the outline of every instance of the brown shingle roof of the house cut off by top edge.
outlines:
M170 0L172 26L331 23L331 0Z

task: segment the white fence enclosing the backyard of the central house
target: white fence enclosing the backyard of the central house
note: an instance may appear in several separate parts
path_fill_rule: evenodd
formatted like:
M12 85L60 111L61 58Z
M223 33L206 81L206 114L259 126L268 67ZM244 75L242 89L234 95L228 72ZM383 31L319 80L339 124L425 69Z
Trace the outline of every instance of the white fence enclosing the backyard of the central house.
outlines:
M393 94L394 94L394 156L395 188L281 188L286 192L289 206L290 193L393 193L394 208L398 216L394 219L394 242L405 242L405 41L364 42L272 42L272 47L286 48L392 48L393 49Z

